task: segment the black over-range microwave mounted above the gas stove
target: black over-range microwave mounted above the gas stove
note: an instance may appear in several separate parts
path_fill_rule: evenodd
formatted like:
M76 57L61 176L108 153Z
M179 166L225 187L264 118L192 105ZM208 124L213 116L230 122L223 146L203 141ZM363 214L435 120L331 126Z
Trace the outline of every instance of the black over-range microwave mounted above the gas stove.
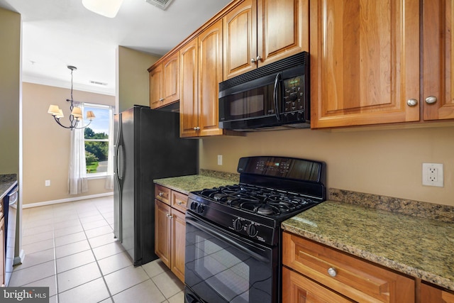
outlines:
M219 83L219 127L233 131L309 128L309 53Z

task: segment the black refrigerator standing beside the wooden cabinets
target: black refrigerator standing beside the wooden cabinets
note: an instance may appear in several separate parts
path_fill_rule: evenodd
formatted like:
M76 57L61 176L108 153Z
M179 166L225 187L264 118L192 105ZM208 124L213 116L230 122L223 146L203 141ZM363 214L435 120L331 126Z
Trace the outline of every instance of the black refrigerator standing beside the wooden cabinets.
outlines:
M114 117L114 235L135 266L155 255L154 179L199 172L199 141L179 138L179 114L133 106Z

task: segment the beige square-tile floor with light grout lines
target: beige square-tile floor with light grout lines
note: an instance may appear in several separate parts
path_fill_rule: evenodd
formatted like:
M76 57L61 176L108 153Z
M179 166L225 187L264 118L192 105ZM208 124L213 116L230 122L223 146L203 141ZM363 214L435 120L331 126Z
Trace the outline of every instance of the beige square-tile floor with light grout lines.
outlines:
M23 209L23 263L9 286L49 287L50 302L184 302L158 259L134 268L116 242L114 198Z

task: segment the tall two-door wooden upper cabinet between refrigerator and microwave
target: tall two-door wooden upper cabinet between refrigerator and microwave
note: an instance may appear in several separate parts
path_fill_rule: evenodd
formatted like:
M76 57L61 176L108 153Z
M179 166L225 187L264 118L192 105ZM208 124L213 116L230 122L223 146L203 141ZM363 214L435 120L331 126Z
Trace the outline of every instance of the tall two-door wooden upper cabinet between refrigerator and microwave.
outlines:
M218 20L180 49L181 137L223 134L218 127L218 84L222 79L222 21Z

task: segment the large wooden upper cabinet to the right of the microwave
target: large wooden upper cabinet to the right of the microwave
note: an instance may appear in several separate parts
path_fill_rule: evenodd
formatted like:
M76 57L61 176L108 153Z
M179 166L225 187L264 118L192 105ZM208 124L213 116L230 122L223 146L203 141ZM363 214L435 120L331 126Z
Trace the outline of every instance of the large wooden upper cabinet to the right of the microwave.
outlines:
M312 128L454 119L453 1L422 2L311 1Z

